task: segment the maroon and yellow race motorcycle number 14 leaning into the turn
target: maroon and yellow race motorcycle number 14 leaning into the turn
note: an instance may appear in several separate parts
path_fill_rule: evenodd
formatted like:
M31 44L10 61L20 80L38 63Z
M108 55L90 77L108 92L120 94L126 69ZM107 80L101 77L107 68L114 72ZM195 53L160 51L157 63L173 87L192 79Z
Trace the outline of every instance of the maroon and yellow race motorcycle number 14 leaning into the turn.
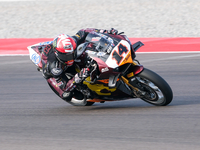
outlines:
M28 47L30 59L38 71L42 71L42 53L48 50L49 44L52 41ZM143 45L140 41L132 45L123 33L89 33L85 42L77 47L75 62L78 63L80 57L87 54L94 60L95 71L75 88L82 98L74 96L67 102L75 106L91 106L96 102L140 98L156 106L168 105L173 99L168 83L135 59L135 52ZM69 79L73 77L70 77L70 73L66 73L66 76ZM53 81L54 78L49 79L49 86L59 96L59 90L54 90L59 86Z

